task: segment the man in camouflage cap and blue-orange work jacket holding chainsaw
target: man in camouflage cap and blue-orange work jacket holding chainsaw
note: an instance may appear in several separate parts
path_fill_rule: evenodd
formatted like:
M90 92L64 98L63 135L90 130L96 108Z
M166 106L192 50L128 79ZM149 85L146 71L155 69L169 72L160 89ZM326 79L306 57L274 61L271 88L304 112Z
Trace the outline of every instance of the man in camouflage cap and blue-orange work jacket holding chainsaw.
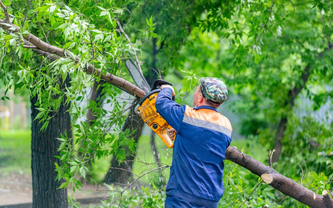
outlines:
M180 106L171 98L174 90L162 85L156 109L173 128L173 144L165 207L217 207L223 195L224 154L231 142L229 120L217 112L228 95L217 78L201 78L193 106Z

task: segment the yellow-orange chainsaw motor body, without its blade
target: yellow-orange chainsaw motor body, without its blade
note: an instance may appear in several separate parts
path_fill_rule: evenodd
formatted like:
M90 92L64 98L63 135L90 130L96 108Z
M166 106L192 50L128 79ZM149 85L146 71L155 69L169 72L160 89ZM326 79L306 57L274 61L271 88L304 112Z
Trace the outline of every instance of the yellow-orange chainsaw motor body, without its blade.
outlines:
M159 135L159 137L163 140L166 146L172 148L173 142L169 138L168 132L166 131L167 129L170 129L172 127L167 124L164 118L161 117L155 107L155 102L158 94L159 93L154 93L149 96L141 104L141 106L138 107L138 112L140 112L140 116L144 120L144 122Z

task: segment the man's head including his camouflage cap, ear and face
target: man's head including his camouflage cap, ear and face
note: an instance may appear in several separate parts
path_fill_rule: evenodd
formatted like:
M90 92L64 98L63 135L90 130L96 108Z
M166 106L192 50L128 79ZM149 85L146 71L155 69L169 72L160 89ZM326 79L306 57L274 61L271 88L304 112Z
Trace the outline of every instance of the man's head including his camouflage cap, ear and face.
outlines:
M200 79L200 85L196 88L193 99L193 106L208 105L218 107L228 95L224 82L214 77L204 77Z

